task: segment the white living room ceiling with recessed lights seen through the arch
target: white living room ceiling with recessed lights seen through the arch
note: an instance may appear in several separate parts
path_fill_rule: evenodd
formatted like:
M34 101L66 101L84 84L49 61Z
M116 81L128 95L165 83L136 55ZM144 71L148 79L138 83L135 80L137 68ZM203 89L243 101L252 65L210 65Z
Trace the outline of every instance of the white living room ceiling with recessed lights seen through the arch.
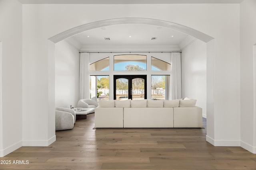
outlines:
M152 38L156 38L152 40ZM105 40L110 38L110 40ZM120 24L90 29L66 39L79 51L181 51L196 38L167 27Z

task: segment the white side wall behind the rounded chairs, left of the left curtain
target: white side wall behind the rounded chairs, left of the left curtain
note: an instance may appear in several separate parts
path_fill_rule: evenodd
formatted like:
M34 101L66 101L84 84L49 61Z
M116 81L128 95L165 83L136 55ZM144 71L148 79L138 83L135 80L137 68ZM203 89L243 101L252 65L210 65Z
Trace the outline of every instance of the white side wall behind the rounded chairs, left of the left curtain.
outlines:
M79 93L79 51L63 40L55 45L55 106L76 107Z

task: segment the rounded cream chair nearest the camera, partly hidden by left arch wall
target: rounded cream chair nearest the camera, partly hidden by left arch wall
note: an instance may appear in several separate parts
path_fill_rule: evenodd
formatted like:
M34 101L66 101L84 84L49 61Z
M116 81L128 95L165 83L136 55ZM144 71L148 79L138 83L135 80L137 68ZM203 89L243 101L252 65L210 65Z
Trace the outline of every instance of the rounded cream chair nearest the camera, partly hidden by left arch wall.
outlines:
M64 107L55 108L55 130L73 129L76 121L76 113L73 109Z

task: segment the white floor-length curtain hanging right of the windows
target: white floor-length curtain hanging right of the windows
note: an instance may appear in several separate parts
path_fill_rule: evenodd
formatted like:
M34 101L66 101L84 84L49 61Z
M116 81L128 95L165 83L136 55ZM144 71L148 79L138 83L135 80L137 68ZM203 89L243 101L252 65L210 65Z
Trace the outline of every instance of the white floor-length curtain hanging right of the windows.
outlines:
M181 98L181 53L171 53L170 100Z

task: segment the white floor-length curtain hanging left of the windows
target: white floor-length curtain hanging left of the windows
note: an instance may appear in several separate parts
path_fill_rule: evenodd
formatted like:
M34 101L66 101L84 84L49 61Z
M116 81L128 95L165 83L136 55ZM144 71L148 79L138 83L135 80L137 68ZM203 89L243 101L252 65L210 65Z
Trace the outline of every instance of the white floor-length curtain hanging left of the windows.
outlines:
M79 100L90 99L90 56L80 53Z

